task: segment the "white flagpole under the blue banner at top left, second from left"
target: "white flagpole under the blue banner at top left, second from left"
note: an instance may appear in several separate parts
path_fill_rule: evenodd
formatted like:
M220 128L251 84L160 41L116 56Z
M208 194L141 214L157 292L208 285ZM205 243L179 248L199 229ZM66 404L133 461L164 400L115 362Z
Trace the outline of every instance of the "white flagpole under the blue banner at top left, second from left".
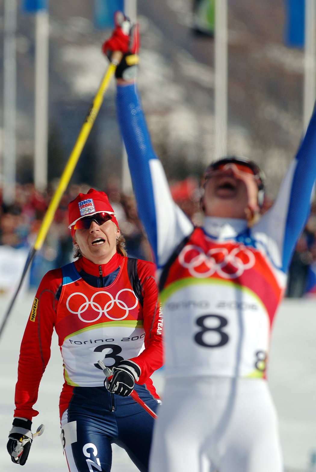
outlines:
M48 166L48 9L38 10L35 18L34 185L37 189L44 190L47 187Z

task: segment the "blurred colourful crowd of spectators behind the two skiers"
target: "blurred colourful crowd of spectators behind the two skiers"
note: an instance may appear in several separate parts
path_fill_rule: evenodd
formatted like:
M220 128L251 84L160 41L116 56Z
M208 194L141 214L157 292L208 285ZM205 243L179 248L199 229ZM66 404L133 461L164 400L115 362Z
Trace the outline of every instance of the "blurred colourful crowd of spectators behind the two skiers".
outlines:
M38 287L42 276L48 270L74 260L67 207L79 193L87 193L89 188L90 185L87 184L69 185L63 194L46 240L31 265L28 280L30 289ZM10 251L11 248L24 250L25 253L30 250L55 190L56 186L53 184L45 192L39 192L33 184L17 185L14 203L8 205L1 199L0 248L10 248ZM98 190L108 194L121 232L125 236L128 255L152 261L150 245L138 218L133 196L123 194L115 181L108 184L107 188ZM171 182L170 190L175 202L193 223L200 225L203 215L200 211L198 182L191 177L182 182ZM265 212L271 204L272 201L266 197L262 211ZM308 222L293 254L286 295L316 296L316 202L311 207Z

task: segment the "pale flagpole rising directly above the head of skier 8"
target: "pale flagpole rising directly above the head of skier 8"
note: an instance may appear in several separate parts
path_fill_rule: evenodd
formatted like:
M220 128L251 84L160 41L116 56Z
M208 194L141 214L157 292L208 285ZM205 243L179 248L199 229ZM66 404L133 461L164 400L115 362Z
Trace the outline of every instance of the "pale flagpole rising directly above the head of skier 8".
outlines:
M215 2L215 158L227 154L227 0Z

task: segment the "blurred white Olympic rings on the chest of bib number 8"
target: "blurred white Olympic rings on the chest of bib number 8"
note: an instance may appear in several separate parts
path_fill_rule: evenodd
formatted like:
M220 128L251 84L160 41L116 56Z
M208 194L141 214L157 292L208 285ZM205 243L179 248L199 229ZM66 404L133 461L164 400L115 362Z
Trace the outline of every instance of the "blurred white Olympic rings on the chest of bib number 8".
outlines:
M217 273L223 278L232 279L251 269L256 258L245 246L235 247L231 252L225 247L215 247L204 253L199 246L189 244L179 254L179 262L196 278L206 278Z

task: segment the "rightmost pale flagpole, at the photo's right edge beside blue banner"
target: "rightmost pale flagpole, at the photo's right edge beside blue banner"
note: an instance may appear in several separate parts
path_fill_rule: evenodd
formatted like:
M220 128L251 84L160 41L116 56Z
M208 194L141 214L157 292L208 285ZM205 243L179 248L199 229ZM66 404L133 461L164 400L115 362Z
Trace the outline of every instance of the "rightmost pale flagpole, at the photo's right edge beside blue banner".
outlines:
M316 98L316 2L305 0L303 125L306 130Z

